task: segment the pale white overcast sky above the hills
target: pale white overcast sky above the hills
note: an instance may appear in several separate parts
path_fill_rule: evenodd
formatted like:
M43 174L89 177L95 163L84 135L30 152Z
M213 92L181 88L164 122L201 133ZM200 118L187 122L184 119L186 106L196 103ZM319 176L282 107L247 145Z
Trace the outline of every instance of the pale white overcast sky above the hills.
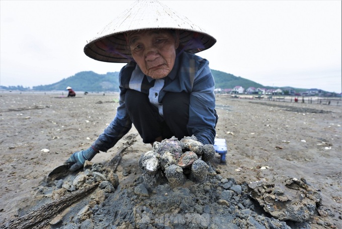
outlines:
M93 60L83 47L133 2L1 0L0 85L120 71L123 64ZM265 86L341 92L341 1L162 2L217 39L198 53L211 69Z

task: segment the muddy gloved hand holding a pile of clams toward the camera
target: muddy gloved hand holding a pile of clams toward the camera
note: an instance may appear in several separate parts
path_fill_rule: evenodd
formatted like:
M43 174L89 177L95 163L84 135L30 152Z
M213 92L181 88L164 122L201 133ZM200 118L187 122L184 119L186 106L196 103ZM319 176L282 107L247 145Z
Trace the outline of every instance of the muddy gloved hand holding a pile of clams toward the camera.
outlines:
M215 156L213 145L204 145L193 135L178 140L175 136L154 142L153 149L142 154L139 166L149 186L169 183L183 185L188 179L195 183L205 181L208 164Z

